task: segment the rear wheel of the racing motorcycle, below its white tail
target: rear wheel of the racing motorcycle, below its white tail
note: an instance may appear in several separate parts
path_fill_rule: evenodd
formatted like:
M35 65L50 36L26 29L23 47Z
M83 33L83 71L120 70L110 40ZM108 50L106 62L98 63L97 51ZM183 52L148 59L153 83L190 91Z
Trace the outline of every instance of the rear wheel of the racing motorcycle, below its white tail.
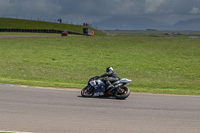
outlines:
M130 95L130 89L126 86L120 86L115 93L116 99L126 99Z

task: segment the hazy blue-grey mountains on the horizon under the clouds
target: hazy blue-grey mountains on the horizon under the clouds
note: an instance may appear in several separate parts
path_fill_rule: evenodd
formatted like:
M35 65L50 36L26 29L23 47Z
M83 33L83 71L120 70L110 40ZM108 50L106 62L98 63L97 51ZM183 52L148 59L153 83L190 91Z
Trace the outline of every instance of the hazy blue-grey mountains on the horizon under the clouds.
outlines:
M174 25L144 17L113 17L92 23L103 30L200 30L200 18L179 21Z

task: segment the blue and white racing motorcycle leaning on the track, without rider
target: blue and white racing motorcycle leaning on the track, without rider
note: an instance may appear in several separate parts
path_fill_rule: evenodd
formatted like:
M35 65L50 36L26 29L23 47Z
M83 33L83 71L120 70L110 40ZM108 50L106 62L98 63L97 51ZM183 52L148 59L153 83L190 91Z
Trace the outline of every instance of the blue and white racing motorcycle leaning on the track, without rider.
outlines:
M126 87L132 80L123 78L113 83L112 88L106 90L106 84L98 79L92 77L88 81L88 85L82 89L81 95L83 97L115 97L116 99L126 99L130 95L130 89Z

